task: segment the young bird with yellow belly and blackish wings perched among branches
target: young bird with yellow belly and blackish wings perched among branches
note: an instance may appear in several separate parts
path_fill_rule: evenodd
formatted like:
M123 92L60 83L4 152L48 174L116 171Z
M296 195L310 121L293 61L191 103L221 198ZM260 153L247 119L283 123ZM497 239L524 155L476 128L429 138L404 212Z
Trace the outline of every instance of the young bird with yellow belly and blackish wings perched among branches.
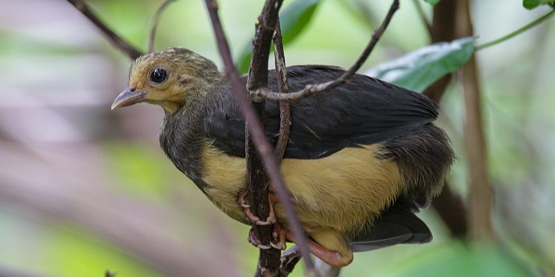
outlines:
M297 91L343 72L291 66L289 88ZM276 78L270 71L274 91ZM160 145L169 159L224 213L250 224L237 200L246 189L245 120L214 62L168 48L137 58L129 79L112 109L138 102L162 107ZM266 136L275 143L278 102L266 101L266 113ZM454 159L449 139L432 123L437 116L429 98L365 75L291 104L281 171L311 238L311 253L345 266L353 251L432 240L414 213L441 190ZM295 241L279 202L274 211Z

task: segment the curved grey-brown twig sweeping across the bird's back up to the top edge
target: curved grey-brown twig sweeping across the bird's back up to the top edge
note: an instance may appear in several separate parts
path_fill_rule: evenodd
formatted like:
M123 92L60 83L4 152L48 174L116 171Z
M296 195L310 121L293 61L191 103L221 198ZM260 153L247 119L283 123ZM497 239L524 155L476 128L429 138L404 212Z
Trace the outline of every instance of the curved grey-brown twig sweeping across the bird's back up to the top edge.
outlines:
M320 84L309 84L304 89L301 89L300 91L296 91L296 92L291 92L291 93L279 93L275 91L270 91L268 89L257 89L255 91L252 91L253 96L251 97L255 100L271 99L271 100L280 100L280 101L294 101L294 100L299 100L301 98L305 98L314 93L326 91L328 89L334 89L336 87L341 86L341 84L345 84L346 82L349 82L352 76L354 76L355 73L357 73L357 71L360 69L362 64L366 61L366 59L368 58L368 55L370 55L370 53L373 51L374 46L377 44L377 41L379 40L379 38L382 37L382 34L386 30L389 22L391 21L391 18L393 17L393 14L395 13L396 10L398 10L398 8L399 8L399 0L394 0L393 3L391 4L391 8L389 8L389 11L384 21L382 21L382 24L380 24L379 27L374 31L374 33L372 34L372 39L370 39L370 42L368 42L368 45L361 53L361 55L359 56L355 64L353 64L350 67L350 69L348 69L348 71L345 71L345 73L343 73L343 75L341 75L339 78L329 82L320 83Z

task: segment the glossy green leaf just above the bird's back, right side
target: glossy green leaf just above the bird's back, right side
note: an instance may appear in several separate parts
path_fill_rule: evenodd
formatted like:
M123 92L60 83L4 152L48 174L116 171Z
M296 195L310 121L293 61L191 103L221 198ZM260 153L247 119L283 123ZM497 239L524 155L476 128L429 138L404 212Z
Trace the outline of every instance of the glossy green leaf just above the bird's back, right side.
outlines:
M475 51L475 37L422 47L391 62L380 64L366 75L400 87L422 92L447 73L459 69Z

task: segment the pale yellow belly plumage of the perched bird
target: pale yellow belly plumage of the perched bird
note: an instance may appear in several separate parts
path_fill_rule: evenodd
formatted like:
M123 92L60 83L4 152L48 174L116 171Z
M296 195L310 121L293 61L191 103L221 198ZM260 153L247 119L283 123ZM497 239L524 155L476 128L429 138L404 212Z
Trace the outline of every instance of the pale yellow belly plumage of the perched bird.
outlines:
M359 231L402 193L397 165L377 159L378 150L378 145L363 145L321 159L282 161L282 175L307 233ZM222 211L244 222L237 195L246 187L245 160L210 142L203 153L203 180L209 185L205 192ZM279 203L275 213L280 223L287 223Z

